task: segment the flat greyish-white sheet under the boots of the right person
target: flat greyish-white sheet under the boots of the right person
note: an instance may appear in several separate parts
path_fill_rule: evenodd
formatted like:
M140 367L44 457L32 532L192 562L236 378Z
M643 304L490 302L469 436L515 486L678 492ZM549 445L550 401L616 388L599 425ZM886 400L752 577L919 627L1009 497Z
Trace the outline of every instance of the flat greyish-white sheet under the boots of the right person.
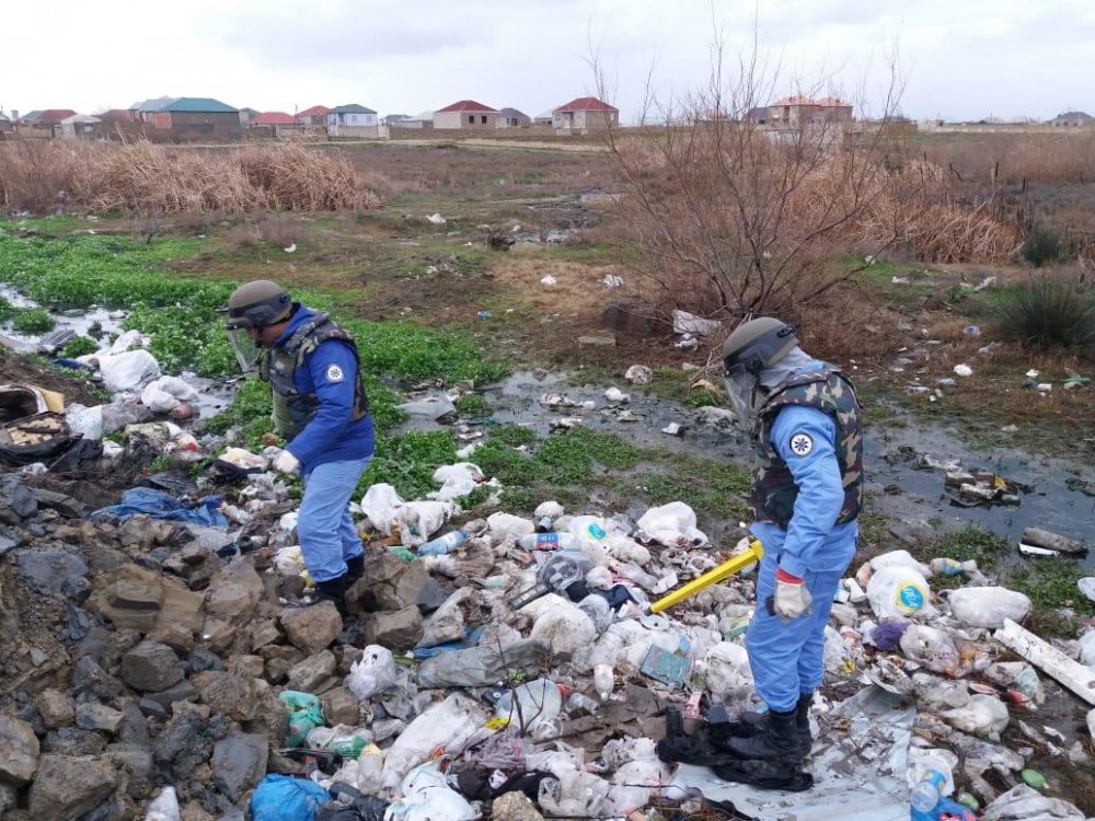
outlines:
M763 790L718 778L707 767L681 764L673 785L698 788L713 801L733 801L760 819L795 821L908 821L909 739L915 707L871 686L830 714L838 726L814 744L806 768L814 787L805 793ZM846 729L845 729L846 725Z

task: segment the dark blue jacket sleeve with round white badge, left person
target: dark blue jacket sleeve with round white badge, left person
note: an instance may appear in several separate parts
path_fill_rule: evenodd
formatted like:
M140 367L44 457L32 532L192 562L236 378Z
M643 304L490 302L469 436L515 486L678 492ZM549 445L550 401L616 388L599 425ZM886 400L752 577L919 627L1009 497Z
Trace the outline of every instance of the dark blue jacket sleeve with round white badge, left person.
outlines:
M349 425L357 385L357 359L349 346L327 339L304 358L304 368L320 407L289 443L288 451L307 470Z

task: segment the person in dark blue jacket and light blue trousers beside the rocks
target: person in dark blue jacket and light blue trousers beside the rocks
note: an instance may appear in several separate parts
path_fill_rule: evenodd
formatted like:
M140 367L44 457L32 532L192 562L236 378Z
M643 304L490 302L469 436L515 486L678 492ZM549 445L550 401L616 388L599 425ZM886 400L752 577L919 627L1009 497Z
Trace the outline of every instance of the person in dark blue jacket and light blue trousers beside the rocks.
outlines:
M273 389L274 425L288 442L274 467L304 477L297 518L304 565L319 597L345 615L346 590L365 573L349 497L374 448L357 346L326 313L268 279L237 288L226 310L241 367L257 367Z

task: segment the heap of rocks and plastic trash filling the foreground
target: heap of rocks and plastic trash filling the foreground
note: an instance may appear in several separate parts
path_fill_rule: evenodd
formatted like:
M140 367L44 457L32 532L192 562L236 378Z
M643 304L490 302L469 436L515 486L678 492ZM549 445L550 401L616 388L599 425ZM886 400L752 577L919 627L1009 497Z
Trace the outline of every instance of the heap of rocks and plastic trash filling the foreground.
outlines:
M151 475L95 510L3 477L4 818L1083 818L1027 764L1088 765L1090 739L1038 709L1047 677L1095 705L1095 632L1069 652L1041 640L1029 599L976 563L853 568L812 786L762 789L684 743L762 709L744 532L713 545L679 501L470 519L456 500L491 482L471 448L433 498L373 485L354 506L366 571L344 623L302 605L278 449L194 447L196 481ZM941 576L966 583L935 592Z

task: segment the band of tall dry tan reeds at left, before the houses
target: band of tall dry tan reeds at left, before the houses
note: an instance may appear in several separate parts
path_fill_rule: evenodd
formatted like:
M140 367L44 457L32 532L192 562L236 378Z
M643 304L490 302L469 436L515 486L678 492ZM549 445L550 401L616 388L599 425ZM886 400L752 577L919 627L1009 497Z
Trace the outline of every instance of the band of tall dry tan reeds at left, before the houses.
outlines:
M0 181L5 207L35 212L58 199L129 216L380 205L342 155L299 143L203 150L15 141L0 146Z

